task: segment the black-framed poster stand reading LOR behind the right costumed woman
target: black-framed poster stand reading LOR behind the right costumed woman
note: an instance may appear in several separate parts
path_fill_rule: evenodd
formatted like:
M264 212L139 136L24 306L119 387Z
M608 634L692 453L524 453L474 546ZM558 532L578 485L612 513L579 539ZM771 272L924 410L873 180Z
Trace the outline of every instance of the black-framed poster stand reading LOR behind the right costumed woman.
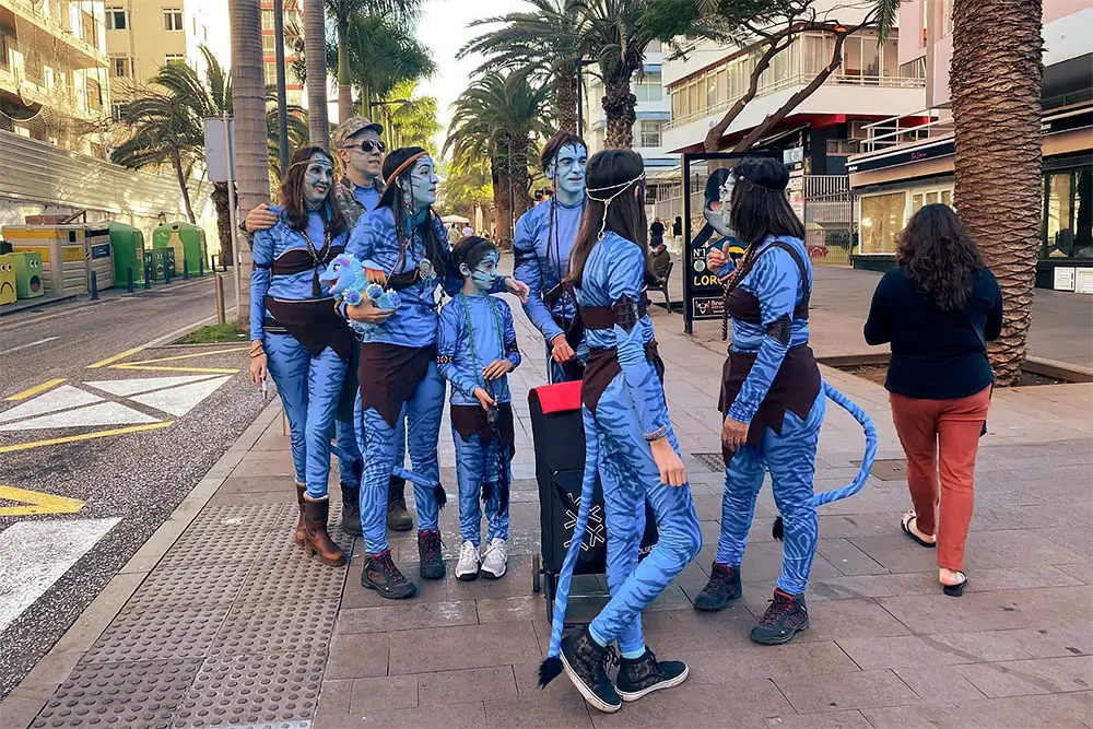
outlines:
M729 171L744 157L781 160L778 151L754 151L745 154L701 152L683 154L683 329L693 333L694 322L720 319L722 315L721 284L706 268L706 254L714 246L730 254L743 252L743 245L732 235L728 223ZM701 205L701 208L700 208ZM736 248L736 250L733 250Z

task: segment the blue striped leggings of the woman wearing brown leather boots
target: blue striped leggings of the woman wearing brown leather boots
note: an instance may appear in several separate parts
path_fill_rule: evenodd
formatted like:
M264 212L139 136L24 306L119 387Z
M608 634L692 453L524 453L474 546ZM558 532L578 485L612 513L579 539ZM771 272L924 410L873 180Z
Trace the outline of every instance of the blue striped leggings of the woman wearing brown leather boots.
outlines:
M296 482L307 486L312 498L325 498L330 478L330 434L345 362L329 346L313 356L292 334L266 334L262 345L289 418Z

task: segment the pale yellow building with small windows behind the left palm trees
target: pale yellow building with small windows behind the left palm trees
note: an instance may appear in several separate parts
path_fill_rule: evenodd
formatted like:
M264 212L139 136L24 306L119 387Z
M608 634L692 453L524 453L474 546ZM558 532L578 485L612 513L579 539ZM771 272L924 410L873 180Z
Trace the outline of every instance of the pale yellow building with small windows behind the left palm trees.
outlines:
M106 0L114 113L148 85L167 63L204 73L201 46L209 44L210 19L200 0ZM227 58L218 59L228 67Z

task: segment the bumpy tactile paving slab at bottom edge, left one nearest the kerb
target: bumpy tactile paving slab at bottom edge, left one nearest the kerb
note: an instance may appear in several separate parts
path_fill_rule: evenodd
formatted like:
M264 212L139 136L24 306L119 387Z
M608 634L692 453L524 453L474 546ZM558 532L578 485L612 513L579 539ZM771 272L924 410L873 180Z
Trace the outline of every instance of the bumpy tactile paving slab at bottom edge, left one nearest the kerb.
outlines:
M78 666L31 725L167 727L200 659Z

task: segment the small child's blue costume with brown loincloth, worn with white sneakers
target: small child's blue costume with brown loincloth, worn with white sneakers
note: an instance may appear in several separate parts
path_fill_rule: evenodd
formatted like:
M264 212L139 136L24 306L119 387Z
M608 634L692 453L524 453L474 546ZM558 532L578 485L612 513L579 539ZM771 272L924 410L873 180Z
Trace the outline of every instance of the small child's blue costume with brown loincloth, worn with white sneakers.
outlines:
M451 439L456 446L459 479L459 528L463 542L479 546L485 502L487 542L508 539L508 486L515 455L513 395L508 376L485 380L482 369L497 360L520 364L513 310L494 296L459 294L440 309L436 362L451 383ZM486 413L474 397L485 389L496 401ZM492 419L491 419L492 416Z

